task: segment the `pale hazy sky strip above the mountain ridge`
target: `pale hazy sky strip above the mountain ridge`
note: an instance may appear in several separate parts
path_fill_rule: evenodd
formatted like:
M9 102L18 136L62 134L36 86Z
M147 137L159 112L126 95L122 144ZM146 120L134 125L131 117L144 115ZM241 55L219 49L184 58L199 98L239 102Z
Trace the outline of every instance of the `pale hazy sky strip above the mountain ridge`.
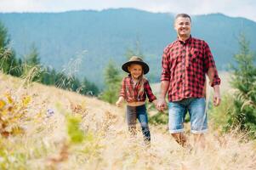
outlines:
M0 0L0 12L62 12L139 8L151 12L222 13L256 21L256 0Z

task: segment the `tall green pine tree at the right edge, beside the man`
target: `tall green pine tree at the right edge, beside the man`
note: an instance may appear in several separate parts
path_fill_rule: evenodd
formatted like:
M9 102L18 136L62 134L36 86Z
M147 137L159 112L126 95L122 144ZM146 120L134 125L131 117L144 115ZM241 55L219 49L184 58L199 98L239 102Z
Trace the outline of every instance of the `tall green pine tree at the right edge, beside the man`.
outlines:
M256 67L255 55L249 49L249 42L242 35L239 40L240 51L234 56L231 85L236 89L234 112L230 116L233 126L250 130L256 137ZM252 135L253 136L253 135Z

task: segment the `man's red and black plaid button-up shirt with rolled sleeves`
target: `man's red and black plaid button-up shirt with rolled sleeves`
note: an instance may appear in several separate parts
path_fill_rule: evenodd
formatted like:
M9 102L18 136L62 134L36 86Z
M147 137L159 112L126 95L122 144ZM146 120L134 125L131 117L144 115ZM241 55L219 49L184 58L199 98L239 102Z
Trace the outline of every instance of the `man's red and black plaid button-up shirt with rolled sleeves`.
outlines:
M161 81L169 82L169 101L205 97L206 73L212 87L220 84L207 42L194 37L185 42L177 39L164 49Z

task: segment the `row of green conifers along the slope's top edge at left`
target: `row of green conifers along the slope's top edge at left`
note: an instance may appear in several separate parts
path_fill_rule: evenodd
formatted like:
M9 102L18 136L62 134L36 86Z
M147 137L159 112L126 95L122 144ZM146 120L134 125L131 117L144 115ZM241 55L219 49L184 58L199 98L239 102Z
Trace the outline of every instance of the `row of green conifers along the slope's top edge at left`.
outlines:
M14 49L10 46L8 30L2 22L0 22L0 69L4 74L26 78L28 82L54 85L57 88L85 95L97 96L100 94L99 88L94 82L89 82L86 77L80 80L74 74L43 66L34 45L31 46L30 53L26 54L23 59L17 58Z

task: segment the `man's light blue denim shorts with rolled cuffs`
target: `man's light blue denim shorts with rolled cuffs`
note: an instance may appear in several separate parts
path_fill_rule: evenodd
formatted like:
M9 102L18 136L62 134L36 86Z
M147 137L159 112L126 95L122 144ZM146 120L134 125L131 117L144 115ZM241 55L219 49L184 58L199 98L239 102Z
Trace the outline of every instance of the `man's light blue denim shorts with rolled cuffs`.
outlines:
M184 132L186 112L190 114L191 133L206 133L208 117L205 98L189 98L168 103L168 127L170 133Z

